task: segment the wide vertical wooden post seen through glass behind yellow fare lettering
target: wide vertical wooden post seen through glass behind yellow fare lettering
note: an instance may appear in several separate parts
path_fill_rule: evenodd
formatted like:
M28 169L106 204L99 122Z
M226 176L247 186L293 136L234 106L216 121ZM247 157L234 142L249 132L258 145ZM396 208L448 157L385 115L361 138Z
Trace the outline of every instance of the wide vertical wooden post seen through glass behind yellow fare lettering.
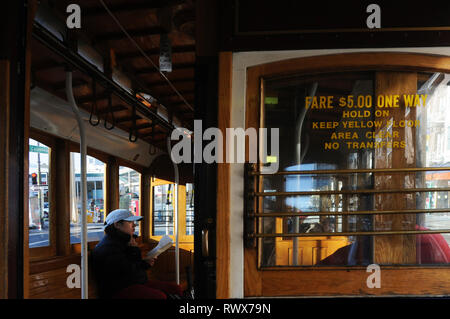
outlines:
M403 94L416 94L417 73L415 72L377 72L375 79L376 96L393 96ZM389 116L378 118L383 122L390 120L405 120L404 102L400 99L400 107L386 109ZM383 109L380 109L383 110ZM413 113L413 114L411 114ZM415 108L410 109L409 116L415 115ZM415 119L415 116L414 116ZM380 130L386 130L387 124ZM393 128L397 131L399 139L405 141L407 128ZM413 129L414 130L414 129ZM413 138L405 148L379 148L375 150L375 168L405 168L415 167L415 139ZM412 154L412 159L408 158ZM376 189L403 189L415 187L415 184L406 185L406 181L415 181L415 173L399 173L392 176L375 174ZM375 210L415 209L415 197L407 194L377 194L375 195ZM375 230L384 230L386 225L391 230L414 230L415 215L377 215L374 217ZM414 264L416 262L416 236L375 236L374 262L377 264Z

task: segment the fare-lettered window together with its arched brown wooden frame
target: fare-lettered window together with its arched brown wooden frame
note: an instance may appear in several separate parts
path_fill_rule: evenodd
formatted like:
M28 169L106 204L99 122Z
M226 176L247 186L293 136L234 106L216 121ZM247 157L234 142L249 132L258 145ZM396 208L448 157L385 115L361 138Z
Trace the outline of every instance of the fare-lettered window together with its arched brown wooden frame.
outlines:
M370 52L247 68L245 127L279 128L279 152L259 143L279 169L245 167L245 296L447 293L449 75L435 70L449 61Z

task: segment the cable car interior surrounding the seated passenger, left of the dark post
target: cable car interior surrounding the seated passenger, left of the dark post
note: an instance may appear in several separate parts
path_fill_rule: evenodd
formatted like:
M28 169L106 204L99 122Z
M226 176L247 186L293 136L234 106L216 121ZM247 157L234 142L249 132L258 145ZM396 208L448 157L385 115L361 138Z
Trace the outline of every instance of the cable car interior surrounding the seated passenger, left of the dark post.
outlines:
M70 95L85 127L88 253L106 215L129 209L144 217L143 254L163 235L177 237L150 278L193 291L193 166L180 164L176 180L167 151L172 130L189 130L194 117L193 2L81 1L80 29L66 27L70 3L40 1L33 22L28 297L81 297L65 284L67 266L80 264L84 207Z

